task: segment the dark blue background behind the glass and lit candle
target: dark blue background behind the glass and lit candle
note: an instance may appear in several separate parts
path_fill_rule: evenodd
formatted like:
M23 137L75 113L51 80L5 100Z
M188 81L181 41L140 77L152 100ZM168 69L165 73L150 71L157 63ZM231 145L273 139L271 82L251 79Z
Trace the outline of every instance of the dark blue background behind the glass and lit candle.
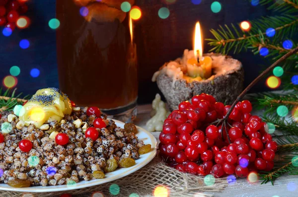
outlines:
M204 37L212 38L209 30L217 29L219 25L272 14L264 6L251 5L249 0L218 1L222 4L222 10L213 13L210 8L213 0L202 0L198 5L191 0L177 0L173 4L161 0L136 0L142 9L142 17L135 22L134 29L139 59L139 104L150 103L158 92L156 84L151 82L152 74L165 62L182 56L184 49L192 49L193 29L197 20L201 23ZM26 15L31 19L31 25L26 29L15 29L9 37L0 34L0 80L9 75L11 66L19 66L21 73L17 76L16 87L19 92L33 94L42 87L59 87L56 33L48 26L48 21L55 18L55 0L29 0L27 4L29 10ZM157 14L163 6L170 10L170 16L166 19L159 18ZM28 49L19 47L21 39L30 41ZM204 51L209 49L205 42ZM245 86L259 74L262 69L260 65L269 66L264 58L250 52L230 55L244 66ZM36 78L30 75L34 67L41 71ZM264 81L252 91L266 90ZM4 86L1 84L1 87Z

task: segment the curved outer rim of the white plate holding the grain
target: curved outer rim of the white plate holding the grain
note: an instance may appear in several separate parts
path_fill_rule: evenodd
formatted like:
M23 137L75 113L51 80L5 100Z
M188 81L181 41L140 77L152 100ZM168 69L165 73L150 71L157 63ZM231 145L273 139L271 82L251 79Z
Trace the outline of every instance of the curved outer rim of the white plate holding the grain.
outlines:
M118 123L118 124L123 124L123 125L125 124L125 123L123 123L121 121L118 121L118 120L114 120L114 119L109 119L109 120L113 120L115 123ZM119 175L116 175L116 176L109 177L107 179L102 179L100 181L94 181L92 183L87 181L84 184L75 185L74 187L68 187L67 185L62 185L62 186L66 186L66 187L58 187L58 188L56 186L45 186L45 187L42 187L42 186L35 186L34 187L33 186L33 187L28 187L28 188L13 188L13 187L10 187L10 186L9 187L0 186L0 191L30 192L30 193L63 192L63 191L78 190L78 189L82 189L82 188L93 187L93 186L109 183L109 182L121 179L123 177L126 177L126 176L140 170L141 168L145 167L150 161L152 161L152 159L155 157L155 155L157 153L157 140L156 140L156 138L151 134L151 132L147 131L146 129L144 129L142 127L137 126L137 129L139 131L141 130L142 132L145 132L149 136L150 143L151 143L151 145L153 145L153 147L151 147L152 151L149 152L150 154L145 158L144 163L140 163L140 165L137 165L135 168L128 169L127 171L121 173L120 177L119 177ZM4 183L1 183L1 184L4 184ZM7 185L7 184L5 184L5 185ZM40 188L36 188L36 187L40 187ZM54 188L51 188L51 187L54 187Z

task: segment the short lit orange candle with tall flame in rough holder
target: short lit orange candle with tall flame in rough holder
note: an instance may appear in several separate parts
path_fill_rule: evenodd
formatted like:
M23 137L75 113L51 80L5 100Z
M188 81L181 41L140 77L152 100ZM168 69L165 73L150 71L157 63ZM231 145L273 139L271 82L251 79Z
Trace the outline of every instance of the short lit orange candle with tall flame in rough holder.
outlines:
M200 23L196 23L194 33L194 57L187 60L187 75L197 80L208 79L212 74L212 59L203 57Z

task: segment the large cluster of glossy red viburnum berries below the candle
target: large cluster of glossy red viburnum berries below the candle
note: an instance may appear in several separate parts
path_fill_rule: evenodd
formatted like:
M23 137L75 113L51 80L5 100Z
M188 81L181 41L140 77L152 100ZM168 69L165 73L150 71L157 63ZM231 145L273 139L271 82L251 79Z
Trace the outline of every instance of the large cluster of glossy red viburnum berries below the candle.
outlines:
M160 155L181 172L211 173L216 178L272 170L277 143L268 133L267 124L250 114L248 100L238 102L229 115L228 136L222 124L212 124L223 119L229 109L229 105L204 93L194 96L191 103L183 101L179 110L164 121L159 135Z

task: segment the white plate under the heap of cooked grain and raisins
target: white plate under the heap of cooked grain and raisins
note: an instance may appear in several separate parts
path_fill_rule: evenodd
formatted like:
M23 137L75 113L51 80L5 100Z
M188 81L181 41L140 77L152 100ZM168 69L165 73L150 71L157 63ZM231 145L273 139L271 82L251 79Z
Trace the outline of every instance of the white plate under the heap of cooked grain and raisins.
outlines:
M118 127L124 128L124 123L115 121L115 124ZM136 165L130 167L130 168L119 168L115 170L114 172L106 173L106 176L104 179L95 179L91 181L80 181L74 186L35 186L35 187L29 187L29 188L13 188L8 186L7 184L0 184L0 190L4 191L14 191L14 192L59 192L59 191L67 191L67 190L77 190L81 188L87 188L91 186L100 185L103 183L111 182L116 179L120 179L122 177L125 177L133 172L136 172L140 168L146 166L156 155L156 139L155 137L145 129L141 127L137 127L139 132L137 133L138 139L143 140L145 144L151 144L152 150L144 155L140 155L140 159L136 160Z

